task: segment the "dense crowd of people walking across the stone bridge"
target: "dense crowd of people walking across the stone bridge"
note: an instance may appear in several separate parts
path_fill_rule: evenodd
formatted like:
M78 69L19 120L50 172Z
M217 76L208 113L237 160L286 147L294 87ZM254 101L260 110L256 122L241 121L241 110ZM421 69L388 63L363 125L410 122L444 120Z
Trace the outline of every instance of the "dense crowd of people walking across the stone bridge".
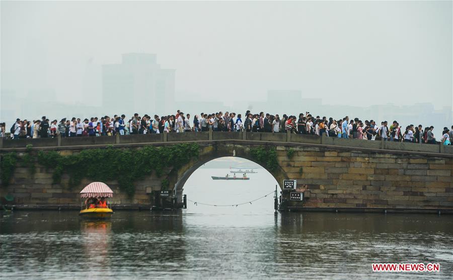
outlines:
M130 118L125 115L104 116L100 119L63 118L60 121L50 121L45 116L41 120L20 120L12 124L9 132L12 139L19 138L46 138L46 137L96 137L112 136L115 134L148 134L148 133L184 133L199 131L224 132L287 132L307 135L317 135L338 138L355 138L362 140L384 140L397 142L414 142L450 145L453 141L453 126L444 127L439 136L434 135L434 127L422 125L408 125L402 127L397 121L389 124L387 121L376 123L374 120L362 121L358 118L334 119L320 117L306 112L298 117L293 115L279 116L260 112L252 114L247 111L244 115L229 112L212 114L201 113L191 116L180 110L175 115L139 116L134 114ZM6 124L0 124L0 137L6 137Z

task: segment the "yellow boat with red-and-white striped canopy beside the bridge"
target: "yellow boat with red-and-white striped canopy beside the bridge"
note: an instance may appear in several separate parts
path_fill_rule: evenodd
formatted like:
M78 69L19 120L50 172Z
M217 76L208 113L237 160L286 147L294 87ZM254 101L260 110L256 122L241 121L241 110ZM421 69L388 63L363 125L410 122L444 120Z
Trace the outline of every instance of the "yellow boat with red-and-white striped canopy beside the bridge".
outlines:
M103 182L92 182L87 185L80 197L85 199L79 215L89 219L109 219L112 217L113 210L107 198L113 197L113 191Z

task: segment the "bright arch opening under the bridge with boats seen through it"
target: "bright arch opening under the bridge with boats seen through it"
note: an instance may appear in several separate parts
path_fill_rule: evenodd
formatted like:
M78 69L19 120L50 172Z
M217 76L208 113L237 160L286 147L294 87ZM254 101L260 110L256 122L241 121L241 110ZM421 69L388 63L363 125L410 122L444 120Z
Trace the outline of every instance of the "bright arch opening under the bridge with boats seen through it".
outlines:
M272 213L276 186L280 195L275 176L246 158L218 157L188 171L176 184L187 195L187 213Z

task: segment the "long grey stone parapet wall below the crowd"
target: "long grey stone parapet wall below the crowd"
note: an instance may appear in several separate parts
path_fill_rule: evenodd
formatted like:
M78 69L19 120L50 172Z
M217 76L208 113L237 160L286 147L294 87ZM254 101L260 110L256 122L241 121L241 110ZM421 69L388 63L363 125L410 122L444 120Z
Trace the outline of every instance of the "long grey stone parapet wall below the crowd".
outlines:
M376 149L406 152L439 153L453 156L453 146L402 143L390 141L365 141L358 139L341 139L336 137L319 137L314 135L300 135L289 133L258 133L258 132L185 132L185 133L162 133L144 135L124 135L124 136L100 136L100 137L75 137L75 138L38 138L38 139L0 139L0 152L10 149L25 149L27 145L33 148L45 147L70 147L70 146L90 146L97 147L102 145L127 145L146 143L166 143L166 142L204 142L204 141L261 141L261 142L286 142L298 144L313 144L347 147L349 149Z

